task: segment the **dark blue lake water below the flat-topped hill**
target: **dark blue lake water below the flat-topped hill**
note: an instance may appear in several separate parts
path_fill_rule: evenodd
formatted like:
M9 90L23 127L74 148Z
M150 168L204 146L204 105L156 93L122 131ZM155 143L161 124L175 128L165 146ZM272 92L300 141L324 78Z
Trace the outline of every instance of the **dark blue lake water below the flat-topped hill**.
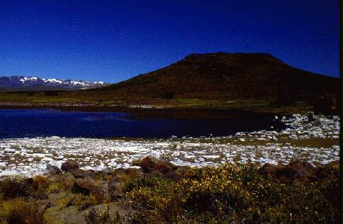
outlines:
M121 112L65 112L59 110L0 110L0 138L38 136L140 137L227 136L236 132L281 127L271 116L201 121L131 120Z

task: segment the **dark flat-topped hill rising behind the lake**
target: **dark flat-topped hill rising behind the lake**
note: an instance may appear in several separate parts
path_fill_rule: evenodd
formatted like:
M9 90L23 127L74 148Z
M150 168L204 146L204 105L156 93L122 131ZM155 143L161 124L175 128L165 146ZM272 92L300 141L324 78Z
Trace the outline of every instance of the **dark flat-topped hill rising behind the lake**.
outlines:
M205 53L96 90L124 98L287 101L338 95L340 83L338 78L296 69L267 53Z

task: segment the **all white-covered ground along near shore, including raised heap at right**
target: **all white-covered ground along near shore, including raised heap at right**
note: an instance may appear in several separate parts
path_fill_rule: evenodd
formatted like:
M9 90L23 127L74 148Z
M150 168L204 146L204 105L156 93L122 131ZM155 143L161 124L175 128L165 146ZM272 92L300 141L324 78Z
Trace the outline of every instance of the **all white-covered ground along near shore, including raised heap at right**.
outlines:
M279 119L279 118L275 118ZM217 166L223 162L259 164L307 160L314 165L340 160L340 146L297 147L287 139L338 138L340 117L294 114L281 119L281 132L239 132L235 136L210 138L168 138L163 140L106 140L95 138L9 138L0 139L0 178L6 175L44 174L47 166L60 167L67 160L82 169L104 170L132 166L147 155L182 166ZM277 137L276 137L277 136ZM222 140L233 140L228 143ZM278 143L278 140L283 143ZM241 142L236 144L236 142ZM250 141L260 140L261 145Z

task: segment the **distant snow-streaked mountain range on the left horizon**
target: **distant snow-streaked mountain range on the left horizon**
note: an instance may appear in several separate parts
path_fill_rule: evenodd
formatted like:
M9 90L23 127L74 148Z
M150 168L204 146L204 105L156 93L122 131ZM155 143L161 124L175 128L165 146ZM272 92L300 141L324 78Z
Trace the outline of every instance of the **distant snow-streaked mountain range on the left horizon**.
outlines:
M80 90L107 86L107 82L87 82L71 79L42 79L39 77L0 77L0 91Z

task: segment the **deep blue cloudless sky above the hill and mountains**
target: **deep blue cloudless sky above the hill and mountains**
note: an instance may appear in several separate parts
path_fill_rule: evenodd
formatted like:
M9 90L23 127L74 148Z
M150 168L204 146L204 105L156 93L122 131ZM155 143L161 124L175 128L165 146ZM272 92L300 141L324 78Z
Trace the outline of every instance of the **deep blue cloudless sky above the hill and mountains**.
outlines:
M338 1L0 0L0 76L119 82L217 51L339 76Z

